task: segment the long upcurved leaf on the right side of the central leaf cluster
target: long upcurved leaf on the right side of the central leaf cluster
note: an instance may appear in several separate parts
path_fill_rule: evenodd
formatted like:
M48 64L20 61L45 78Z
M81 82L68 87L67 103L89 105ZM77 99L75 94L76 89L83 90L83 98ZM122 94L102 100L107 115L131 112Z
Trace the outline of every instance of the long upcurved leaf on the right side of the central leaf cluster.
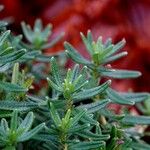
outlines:
M74 102L79 102L81 100L96 96L97 94L104 92L109 87L110 83L111 83L111 80L108 80L107 82L103 83L102 85L98 87L86 89L81 92L75 93L72 96L73 100Z

